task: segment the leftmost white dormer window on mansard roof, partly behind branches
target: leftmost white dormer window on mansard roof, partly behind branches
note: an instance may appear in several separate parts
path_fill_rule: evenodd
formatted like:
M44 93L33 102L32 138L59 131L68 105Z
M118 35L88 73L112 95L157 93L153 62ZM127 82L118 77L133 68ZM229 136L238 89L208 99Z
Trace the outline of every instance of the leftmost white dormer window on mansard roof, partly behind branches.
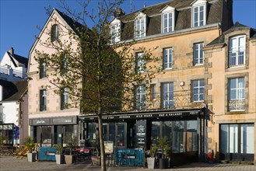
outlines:
M117 43L121 40L121 21L119 19L114 19L110 23L110 40L111 43Z

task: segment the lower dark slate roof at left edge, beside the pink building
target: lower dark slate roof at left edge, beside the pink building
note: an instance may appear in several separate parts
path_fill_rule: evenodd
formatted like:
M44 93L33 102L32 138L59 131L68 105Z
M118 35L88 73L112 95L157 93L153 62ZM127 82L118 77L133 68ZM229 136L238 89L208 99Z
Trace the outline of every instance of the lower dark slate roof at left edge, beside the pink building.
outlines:
M0 85L7 89L8 95L5 96L5 99L2 102L15 101L21 99L23 94L27 91L27 81L20 82L7 82L5 80L0 80Z

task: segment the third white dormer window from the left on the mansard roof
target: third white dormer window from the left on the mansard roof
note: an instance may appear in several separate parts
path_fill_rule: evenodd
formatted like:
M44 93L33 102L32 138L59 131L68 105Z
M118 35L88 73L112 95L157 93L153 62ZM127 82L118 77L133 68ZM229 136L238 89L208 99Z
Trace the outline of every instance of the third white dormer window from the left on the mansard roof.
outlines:
M162 11L162 33L169 33L174 31L174 8L168 6Z

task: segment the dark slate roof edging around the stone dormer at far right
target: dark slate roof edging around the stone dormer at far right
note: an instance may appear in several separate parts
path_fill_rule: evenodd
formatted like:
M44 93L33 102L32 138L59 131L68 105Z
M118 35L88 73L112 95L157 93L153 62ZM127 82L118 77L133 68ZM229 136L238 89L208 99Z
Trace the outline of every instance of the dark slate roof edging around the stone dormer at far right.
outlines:
M239 22L235 23L233 26L230 27L229 30L226 30L226 32L224 32L221 36L217 37L215 40L212 40L211 43L207 44L207 46L212 46L212 45L216 45L216 44L223 44L225 42L225 35L226 33L230 33L234 30L237 29L244 29L244 28L250 28L249 26L244 26L243 24L240 24ZM252 37L256 37L256 30L251 28L250 31L250 38Z

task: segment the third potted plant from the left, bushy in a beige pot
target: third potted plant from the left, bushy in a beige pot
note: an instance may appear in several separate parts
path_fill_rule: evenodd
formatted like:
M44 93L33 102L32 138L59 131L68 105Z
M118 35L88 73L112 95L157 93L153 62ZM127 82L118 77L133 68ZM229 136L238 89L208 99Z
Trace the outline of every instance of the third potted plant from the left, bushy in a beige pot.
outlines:
M65 139L67 141L67 145L65 147L69 149L69 155L65 155L64 157L65 163L72 164L74 162L72 151L77 146L78 139L75 135L72 134L67 134Z

